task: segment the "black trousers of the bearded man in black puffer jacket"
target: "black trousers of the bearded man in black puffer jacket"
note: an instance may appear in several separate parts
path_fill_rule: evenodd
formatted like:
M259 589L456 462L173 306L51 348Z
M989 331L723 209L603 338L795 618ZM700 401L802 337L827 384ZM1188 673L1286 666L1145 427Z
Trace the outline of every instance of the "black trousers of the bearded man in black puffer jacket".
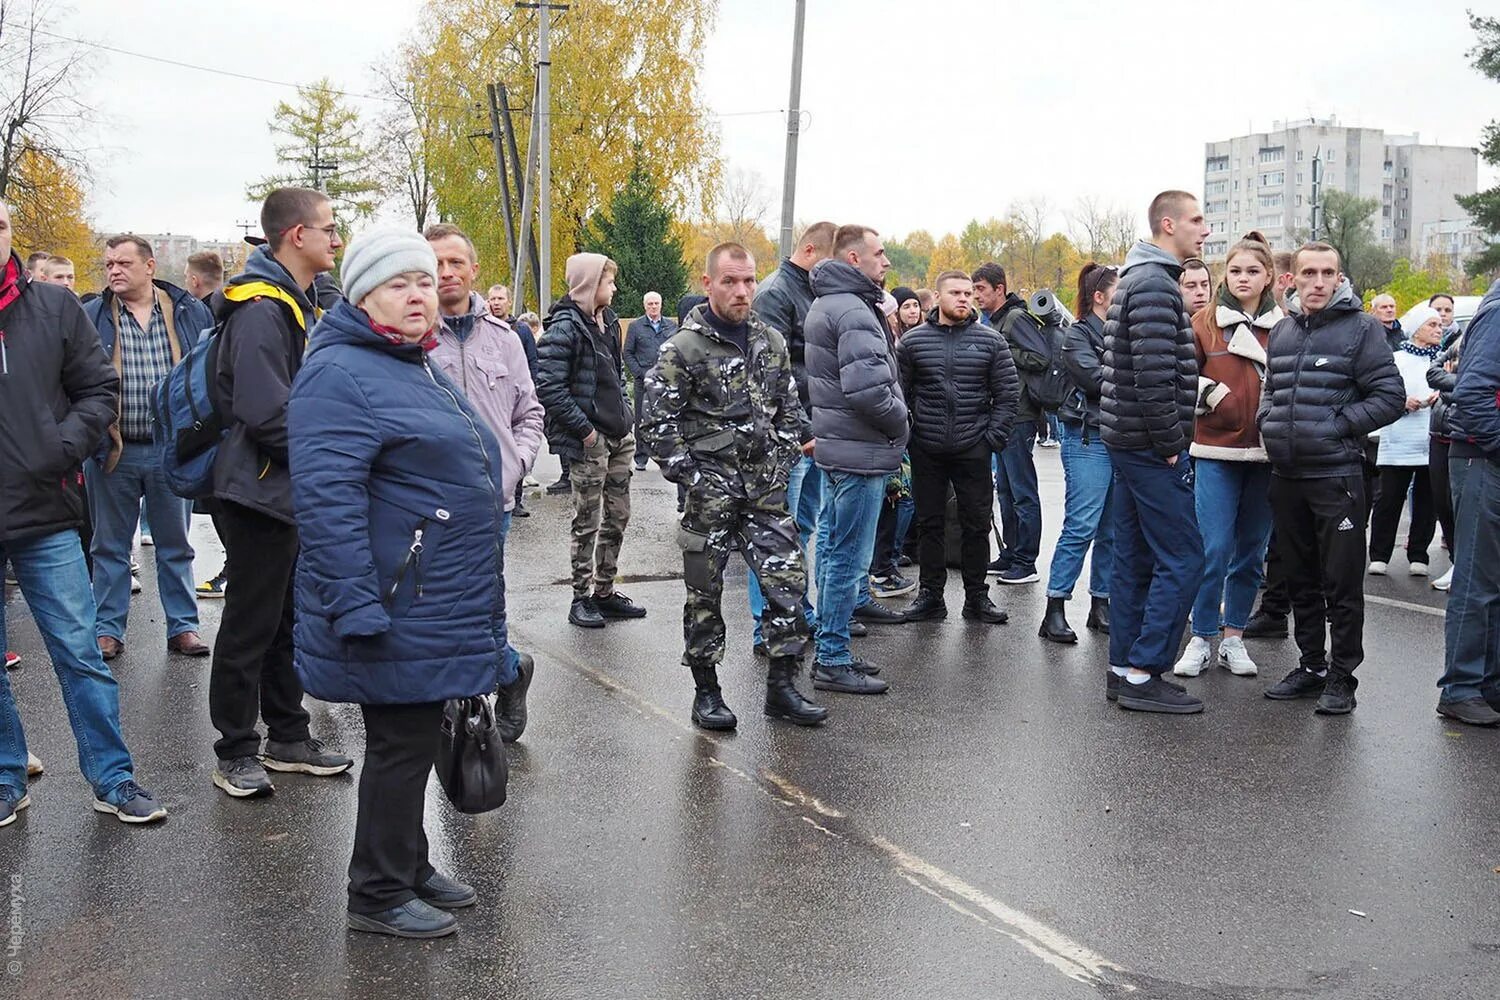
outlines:
M933 454L916 442L912 457L912 499L916 504L918 565L921 588L944 592L948 555L944 526L948 520L948 487L958 501L958 571L964 600L988 594L984 570L990 561L990 450L987 445L958 454Z

